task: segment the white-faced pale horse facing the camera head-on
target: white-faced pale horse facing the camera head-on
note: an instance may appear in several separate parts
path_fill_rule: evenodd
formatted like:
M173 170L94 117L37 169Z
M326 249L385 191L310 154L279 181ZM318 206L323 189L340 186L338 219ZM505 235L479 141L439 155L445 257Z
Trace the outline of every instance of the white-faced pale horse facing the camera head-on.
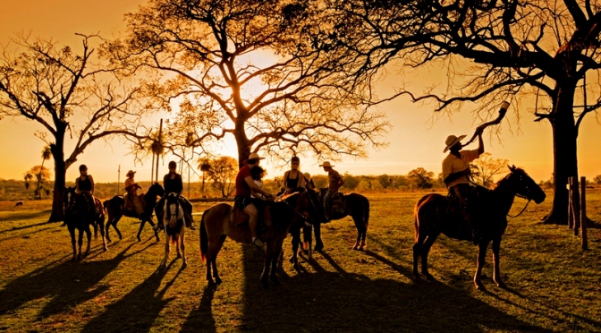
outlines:
M159 223L163 223L165 229L165 258L161 262L161 267L165 269L167 266L167 258L169 258L169 241L175 243L175 249L177 249L177 258L182 258L182 269L188 266L188 260L186 260L185 244L184 244L184 217L183 208L179 201L179 195L177 193L169 193L165 200L165 207L163 209L163 218ZM179 246L178 246L179 244ZM182 253L180 253L180 248Z

